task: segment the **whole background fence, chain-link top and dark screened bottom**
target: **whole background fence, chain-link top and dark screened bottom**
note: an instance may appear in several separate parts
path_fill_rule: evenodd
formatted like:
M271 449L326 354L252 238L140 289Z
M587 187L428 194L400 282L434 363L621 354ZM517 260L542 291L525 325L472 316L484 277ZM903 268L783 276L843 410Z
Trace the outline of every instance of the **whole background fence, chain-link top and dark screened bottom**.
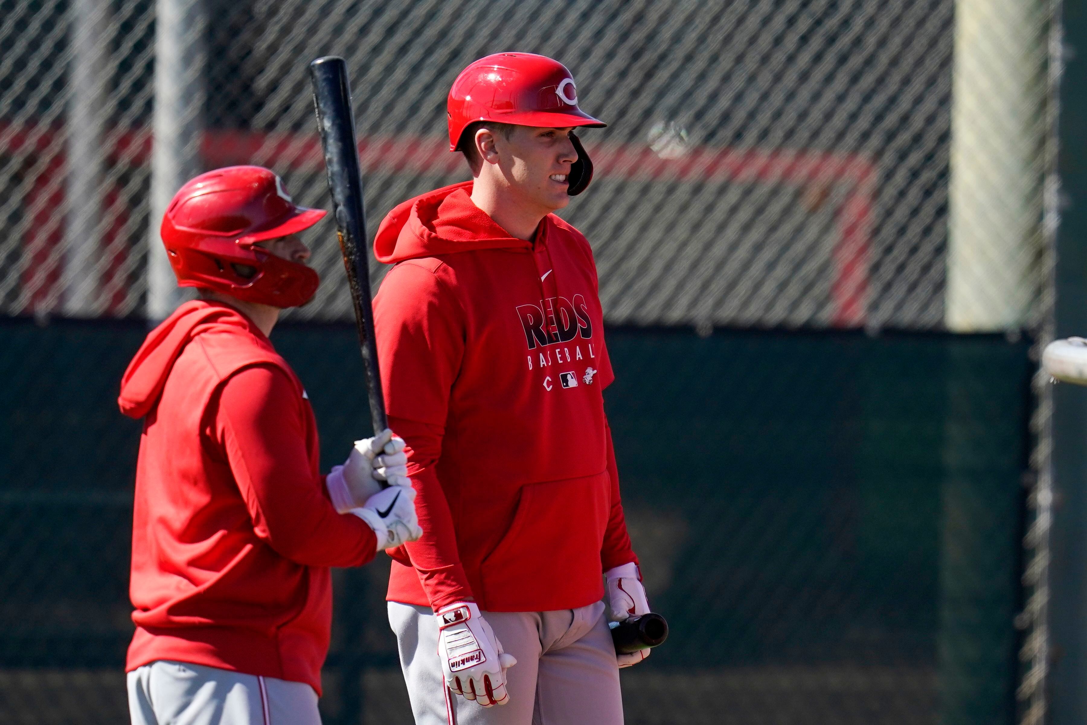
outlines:
M327 207L307 64L352 73L371 230L467 178L472 60L574 73L632 536L672 640L630 723L1041 723L1055 0L0 0L0 721L125 717L158 222L257 163ZM365 433L330 223L274 341L324 464ZM384 268L376 263L374 283ZM689 440L655 473L642 441ZM672 490L670 503L660 492ZM1025 547L1024 547L1025 542ZM339 572L326 722L407 722L384 564Z

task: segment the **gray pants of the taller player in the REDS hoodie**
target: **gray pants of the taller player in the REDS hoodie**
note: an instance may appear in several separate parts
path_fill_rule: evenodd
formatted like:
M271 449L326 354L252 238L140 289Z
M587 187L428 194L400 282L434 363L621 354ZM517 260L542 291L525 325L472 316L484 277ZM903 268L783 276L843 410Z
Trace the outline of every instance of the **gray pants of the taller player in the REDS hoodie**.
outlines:
M555 612L484 612L502 649L510 701L483 708L446 688L428 607L389 602L415 725L622 725L619 665L603 602Z

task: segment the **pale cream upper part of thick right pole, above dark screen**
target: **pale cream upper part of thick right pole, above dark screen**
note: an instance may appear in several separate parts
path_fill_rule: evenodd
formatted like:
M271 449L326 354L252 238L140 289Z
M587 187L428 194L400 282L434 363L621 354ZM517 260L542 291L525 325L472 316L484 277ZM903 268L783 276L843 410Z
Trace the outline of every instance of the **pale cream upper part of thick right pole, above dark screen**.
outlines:
M945 322L1024 326L1038 289L1045 0L958 0Z

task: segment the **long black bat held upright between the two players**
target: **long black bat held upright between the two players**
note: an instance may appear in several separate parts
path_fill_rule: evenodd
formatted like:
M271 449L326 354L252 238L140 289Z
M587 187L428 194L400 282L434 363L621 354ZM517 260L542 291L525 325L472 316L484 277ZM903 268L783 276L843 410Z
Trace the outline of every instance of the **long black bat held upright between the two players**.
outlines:
M321 148L325 153L325 168L328 172L336 236L339 237L347 282L351 288L354 324L366 372L370 420L374 426L374 435L377 435L389 426L385 416L385 397L382 395L382 373L377 366L377 345L374 341L370 254L365 248L366 212L362 203L362 172L359 167L359 145L354 136L347 63L338 55L318 58L310 63L310 80L313 84L313 105L317 112L317 133L321 134Z

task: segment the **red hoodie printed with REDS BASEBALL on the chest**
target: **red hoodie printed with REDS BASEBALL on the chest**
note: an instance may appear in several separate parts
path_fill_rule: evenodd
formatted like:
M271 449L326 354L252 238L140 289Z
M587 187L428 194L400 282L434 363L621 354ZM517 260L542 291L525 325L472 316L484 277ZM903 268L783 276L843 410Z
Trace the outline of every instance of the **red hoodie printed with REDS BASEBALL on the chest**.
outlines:
M388 599L583 607L602 570L636 561L592 252L553 214L534 242L511 237L471 190L405 201L377 232L377 259L396 264L374 301L385 400L424 532L393 553Z

